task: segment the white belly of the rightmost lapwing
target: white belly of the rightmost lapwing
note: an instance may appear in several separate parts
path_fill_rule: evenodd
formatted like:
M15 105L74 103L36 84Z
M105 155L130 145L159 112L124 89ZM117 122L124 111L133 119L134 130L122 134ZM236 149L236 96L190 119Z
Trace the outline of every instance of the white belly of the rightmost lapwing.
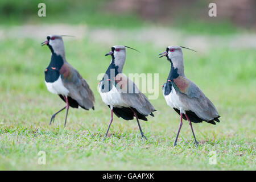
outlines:
M180 101L180 98L177 95L177 92L176 92L176 90L173 86L172 86L171 93L168 94L168 96L164 96L164 98L166 99L166 102L167 102L168 106L174 107L174 108L179 109L181 111L187 110L185 105Z

